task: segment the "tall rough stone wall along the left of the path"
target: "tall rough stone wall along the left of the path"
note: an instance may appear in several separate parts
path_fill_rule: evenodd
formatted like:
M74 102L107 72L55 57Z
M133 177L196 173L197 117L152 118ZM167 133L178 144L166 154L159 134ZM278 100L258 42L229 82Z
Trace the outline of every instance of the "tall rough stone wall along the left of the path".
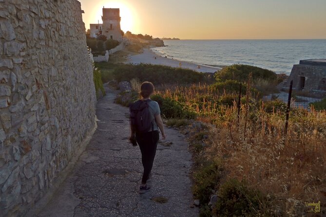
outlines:
M0 216L51 189L95 127L77 0L0 0Z

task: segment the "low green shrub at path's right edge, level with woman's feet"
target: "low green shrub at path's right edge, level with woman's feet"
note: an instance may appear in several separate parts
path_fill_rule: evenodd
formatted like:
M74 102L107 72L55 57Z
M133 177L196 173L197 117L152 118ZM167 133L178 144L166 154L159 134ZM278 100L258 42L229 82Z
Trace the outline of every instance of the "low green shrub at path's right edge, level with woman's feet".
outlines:
M199 168L198 172L194 174L192 194L195 199L199 199L200 204L204 205L210 202L211 191L218 185L221 172L219 164L212 162Z

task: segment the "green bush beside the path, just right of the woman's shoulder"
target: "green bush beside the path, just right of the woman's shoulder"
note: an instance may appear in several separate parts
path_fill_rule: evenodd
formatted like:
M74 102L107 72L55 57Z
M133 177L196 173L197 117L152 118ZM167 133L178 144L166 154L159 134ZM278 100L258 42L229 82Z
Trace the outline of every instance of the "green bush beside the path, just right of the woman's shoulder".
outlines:
M183 108L179 102L169 99L163 98L158 94L154 94L152 100L156 101L160 106L161 113L166 118L187 118L194 119L196 114L192 111L189 111L186 108Z

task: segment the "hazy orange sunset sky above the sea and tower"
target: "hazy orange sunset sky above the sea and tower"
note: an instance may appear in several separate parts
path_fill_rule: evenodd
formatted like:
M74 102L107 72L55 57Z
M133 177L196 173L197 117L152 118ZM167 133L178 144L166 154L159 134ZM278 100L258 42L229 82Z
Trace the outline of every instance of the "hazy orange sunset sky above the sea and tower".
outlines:
M121 29L181 39L326 38L326 0L79 0L86 29L120 8Z

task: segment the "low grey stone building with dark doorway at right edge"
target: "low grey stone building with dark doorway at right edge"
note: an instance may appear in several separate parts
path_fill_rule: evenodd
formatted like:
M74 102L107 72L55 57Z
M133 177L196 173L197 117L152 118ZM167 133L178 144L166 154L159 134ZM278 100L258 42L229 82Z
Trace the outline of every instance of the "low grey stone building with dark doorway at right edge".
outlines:
M326 59L300 60L288 78L296 90L326 90Z

